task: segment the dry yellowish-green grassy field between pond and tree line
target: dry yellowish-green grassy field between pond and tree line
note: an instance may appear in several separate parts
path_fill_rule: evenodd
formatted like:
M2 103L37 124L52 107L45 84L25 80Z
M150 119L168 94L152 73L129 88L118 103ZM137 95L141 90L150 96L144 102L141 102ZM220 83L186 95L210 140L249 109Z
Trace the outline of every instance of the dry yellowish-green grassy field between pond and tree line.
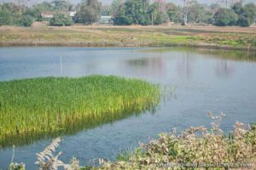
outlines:
M256 50L256 27L0 26L0 45L84 47L246 48Z

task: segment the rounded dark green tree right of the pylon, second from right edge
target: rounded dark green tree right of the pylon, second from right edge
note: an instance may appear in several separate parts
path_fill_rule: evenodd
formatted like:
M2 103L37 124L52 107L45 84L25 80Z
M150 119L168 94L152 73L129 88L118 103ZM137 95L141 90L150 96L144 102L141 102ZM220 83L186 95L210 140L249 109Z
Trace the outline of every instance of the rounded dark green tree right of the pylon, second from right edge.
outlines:
M220 8L214 15L214 24L216 26L234 26L236 25L238 16L229 8Z

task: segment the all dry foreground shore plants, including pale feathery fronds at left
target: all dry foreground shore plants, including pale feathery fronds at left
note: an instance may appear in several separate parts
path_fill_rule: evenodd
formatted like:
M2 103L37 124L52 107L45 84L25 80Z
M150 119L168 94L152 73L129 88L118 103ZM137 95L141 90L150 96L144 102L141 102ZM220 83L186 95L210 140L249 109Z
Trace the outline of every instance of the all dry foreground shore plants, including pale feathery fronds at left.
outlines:
M38 153L38 169L59 168L67 170L85 169L255 169L256 161L256 123L250 126L236 122L234 130L228 135L221 127L224 114L213 116L212 127L190 127L177 133L161 133L159 139L148 144L140 144L137 150L120 153L116 161L99 159L98 166L83 167L73 157L69 163L61 161L61 152L55 148L61 139L53 140ZM83 162L81 162L83 164ZM23 163L11 162L10 167L25 170Z

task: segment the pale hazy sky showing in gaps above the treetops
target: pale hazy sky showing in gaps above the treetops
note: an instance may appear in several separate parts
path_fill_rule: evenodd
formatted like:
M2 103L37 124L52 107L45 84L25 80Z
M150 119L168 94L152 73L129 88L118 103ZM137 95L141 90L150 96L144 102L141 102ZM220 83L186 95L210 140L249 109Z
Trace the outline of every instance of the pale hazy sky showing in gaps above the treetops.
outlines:
M9 2L17 2L17 0L0 0L0 3L9 3ZM30 2L30 4L32 3L41 3L44 2L45 0L20 0L22 1L28 1ZM46 0L46 1L50 1L50 0ZM103 4L110 4L112 2L112 0L101 0ZM182 3L183 0L167 0L168 2L172 2L172 3ZM230 2L232 2L232 0L229 0ZM79 3L81 2L81 0L69 0L69 2L71 3ZM224 2L224 0L198 0L198 2L200 3L220 3L220 2ZM256 3L256 0L245 0L245 3Z

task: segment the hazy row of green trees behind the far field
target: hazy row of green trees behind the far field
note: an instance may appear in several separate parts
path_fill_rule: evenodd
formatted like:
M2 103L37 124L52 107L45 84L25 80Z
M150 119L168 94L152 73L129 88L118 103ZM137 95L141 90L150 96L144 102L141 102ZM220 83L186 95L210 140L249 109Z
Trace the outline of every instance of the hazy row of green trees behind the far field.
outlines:
M166 3L165 0L113 0L111 5L102 5L99 0L82 0L73 5L65 0L38 3L32 7L15 3L0 4L0 26L31 26L34 20L42 21L42 12L54 12L49 20L52 26L71 26L73 23L91 25L102 15L111 15L113 25L162 25L211 24L215 26L251 26L256 19L256 6L241 1L223 7L218 3L211 5L196 0L181 0L183 5ZM227 1L227 0L226 0ZM75 9L73 17L67 13Z

